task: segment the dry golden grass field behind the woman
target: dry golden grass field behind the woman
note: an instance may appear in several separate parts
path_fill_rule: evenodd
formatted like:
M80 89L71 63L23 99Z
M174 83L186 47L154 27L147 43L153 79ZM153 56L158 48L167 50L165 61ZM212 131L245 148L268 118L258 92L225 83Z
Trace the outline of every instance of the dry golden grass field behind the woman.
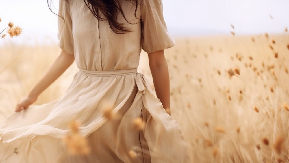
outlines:
M175 40L165 50L171 114L191 160L289 162L289 34ZM0 47L0 123L59 53L56 45ZM229 78L235 67L240 75ZM138 70L153 83L145 53ZM61 98L76 72L74 63L35 105Z

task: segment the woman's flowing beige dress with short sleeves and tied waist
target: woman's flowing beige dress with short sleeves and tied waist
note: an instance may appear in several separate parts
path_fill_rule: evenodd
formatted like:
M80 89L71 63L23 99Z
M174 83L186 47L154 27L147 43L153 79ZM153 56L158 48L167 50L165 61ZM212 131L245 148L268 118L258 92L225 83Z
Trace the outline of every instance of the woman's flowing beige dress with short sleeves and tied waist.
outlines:
M97 20L83 0L60 0L59 46L74 54L79 71L59 100L30 105L13 113L0 127L0 162L190 162L179 124L152 94L147 78L137 72L141 49L166 49L175 41L166 29L162 0L143 0L135 6L122 1L133 30L115 34L107 21ZM142 23L137 23L143 19ZM108 120L103 107L111 105L118 118ZM141 117L144 130L135 130ZM62 144L74 119L91 147L88 156L71 156ZM13 153L18 148L18 154ZM129 151L136 157L129 157Z

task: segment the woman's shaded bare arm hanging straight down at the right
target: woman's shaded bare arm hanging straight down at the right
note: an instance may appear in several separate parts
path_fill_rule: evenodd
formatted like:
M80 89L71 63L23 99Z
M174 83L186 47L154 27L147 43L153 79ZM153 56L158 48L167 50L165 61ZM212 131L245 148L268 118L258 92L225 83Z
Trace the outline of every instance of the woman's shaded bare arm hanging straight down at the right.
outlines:
M155 92L162 102L164 109L170 114L170 78L164 50L159 50L148 55Z

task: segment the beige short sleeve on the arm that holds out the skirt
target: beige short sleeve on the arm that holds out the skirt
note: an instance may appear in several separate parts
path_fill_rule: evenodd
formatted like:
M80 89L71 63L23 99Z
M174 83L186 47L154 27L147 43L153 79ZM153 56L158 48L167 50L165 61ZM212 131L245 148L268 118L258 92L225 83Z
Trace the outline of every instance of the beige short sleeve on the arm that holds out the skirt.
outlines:
M69 54L74 54L72 21L69 3L66 0L59 0L58 15L58 46Z

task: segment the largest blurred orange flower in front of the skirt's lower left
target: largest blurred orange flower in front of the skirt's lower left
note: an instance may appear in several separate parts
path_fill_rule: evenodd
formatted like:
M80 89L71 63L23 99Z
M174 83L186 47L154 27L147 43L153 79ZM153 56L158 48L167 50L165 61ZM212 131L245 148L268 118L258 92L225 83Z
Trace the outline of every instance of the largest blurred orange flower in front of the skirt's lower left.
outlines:
M64 142L68 152L72 155L88 155L91 151L87 140L78 132L79 122L72 121L69 124L70 134L66 135Z

